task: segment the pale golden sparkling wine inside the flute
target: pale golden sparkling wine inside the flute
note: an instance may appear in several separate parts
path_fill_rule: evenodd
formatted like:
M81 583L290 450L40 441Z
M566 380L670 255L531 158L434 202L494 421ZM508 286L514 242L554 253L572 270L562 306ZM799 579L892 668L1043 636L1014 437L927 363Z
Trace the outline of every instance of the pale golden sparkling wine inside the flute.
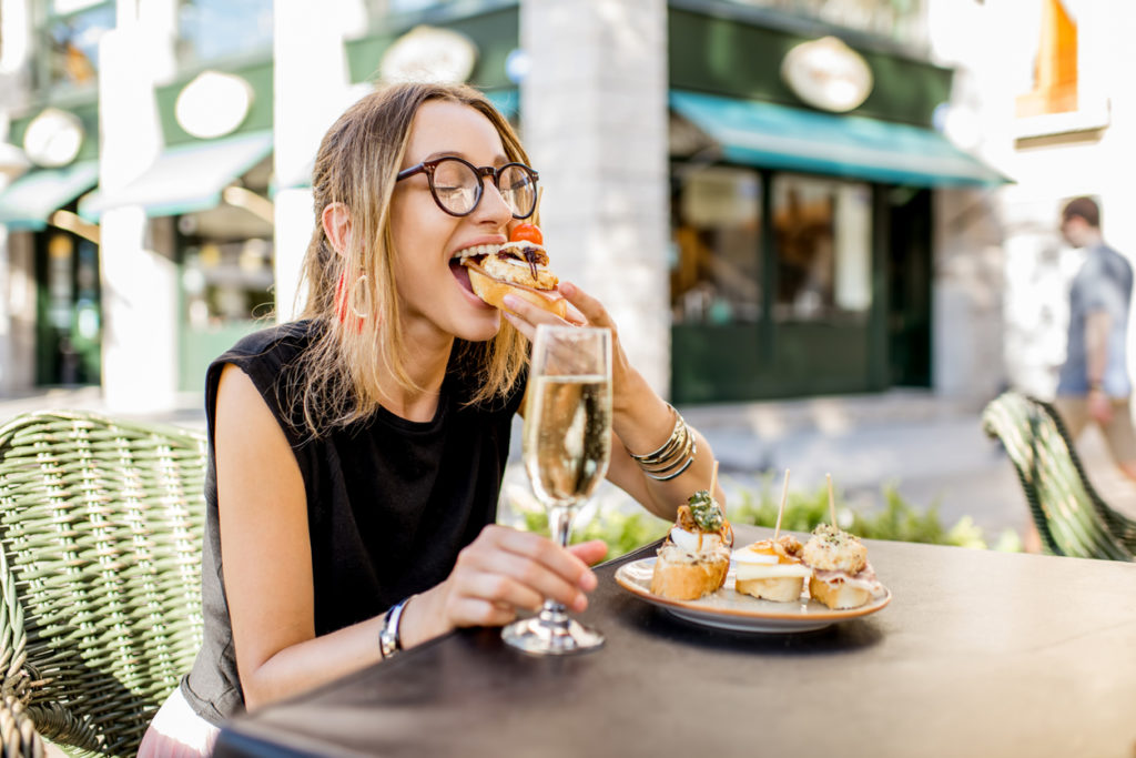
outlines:
M550 508L582 505L611 453L611 383L603 375L537 376L525 407L525 469Z

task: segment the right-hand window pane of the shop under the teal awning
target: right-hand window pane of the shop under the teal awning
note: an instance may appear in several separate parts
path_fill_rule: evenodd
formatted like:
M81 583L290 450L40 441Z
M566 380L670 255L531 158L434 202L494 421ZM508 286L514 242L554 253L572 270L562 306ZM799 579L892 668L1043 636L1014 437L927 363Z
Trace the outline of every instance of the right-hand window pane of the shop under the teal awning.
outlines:
M867 184L779 174L772 184L778 320L862 318L871 307Z

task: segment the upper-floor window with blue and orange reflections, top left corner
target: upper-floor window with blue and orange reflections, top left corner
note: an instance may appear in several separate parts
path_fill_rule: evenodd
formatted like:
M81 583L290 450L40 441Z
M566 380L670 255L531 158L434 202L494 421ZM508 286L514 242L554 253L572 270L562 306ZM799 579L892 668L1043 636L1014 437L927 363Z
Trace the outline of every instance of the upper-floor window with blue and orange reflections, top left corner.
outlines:
M93 88L99 76L99 40L115 28L115 2L53 0L41 19L44 55L37 65L48 88Z

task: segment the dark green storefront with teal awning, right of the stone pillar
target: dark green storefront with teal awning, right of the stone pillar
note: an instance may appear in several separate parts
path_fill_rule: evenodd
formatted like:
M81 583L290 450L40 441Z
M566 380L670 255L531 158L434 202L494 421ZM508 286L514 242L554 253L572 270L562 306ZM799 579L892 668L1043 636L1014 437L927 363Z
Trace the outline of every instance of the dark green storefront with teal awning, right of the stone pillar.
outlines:
M700 5L668 11L674 395L930 388L934 195L1002 177L933 128L920 3L859 3L855 47Z

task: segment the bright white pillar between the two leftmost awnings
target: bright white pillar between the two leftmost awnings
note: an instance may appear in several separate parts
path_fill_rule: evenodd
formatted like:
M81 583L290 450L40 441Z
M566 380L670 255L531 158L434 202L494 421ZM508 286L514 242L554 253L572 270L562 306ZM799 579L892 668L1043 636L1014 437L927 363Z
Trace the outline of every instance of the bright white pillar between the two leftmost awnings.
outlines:
M152 47L135 0L118 0L118 26L99 43L99 184L108 192L145 172L162 149L152 72L140 65ZM111 413L174 407L177 389L177 275L149 241L145 211L102 215L102 390Z

